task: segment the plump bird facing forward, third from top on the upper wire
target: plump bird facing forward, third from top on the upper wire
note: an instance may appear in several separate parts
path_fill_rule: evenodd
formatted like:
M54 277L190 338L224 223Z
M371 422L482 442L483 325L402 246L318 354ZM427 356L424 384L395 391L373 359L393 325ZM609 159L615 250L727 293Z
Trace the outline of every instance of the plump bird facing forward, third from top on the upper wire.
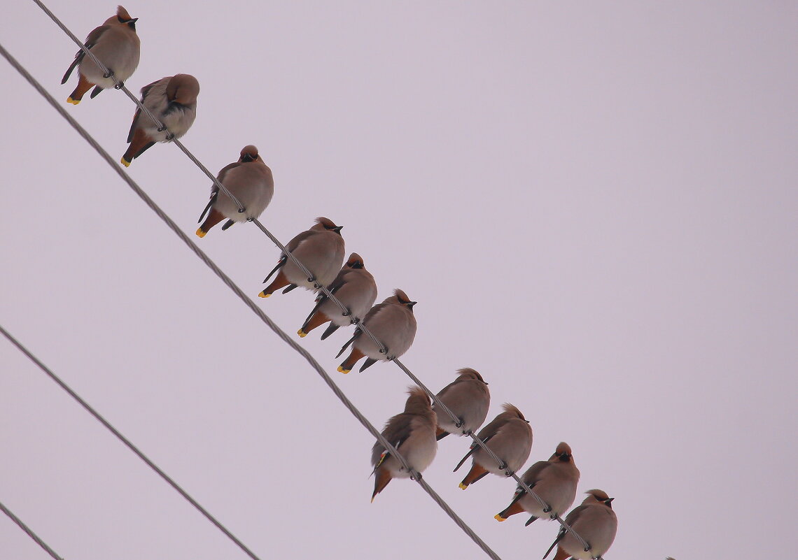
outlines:
M216 176L224 188L239 199L243 210L235 205L235 202L224 192L219 192L219 187L214 183L211 186L211 201L205 206L199 221L207 214L203 225L197 229L199 237L211 228L228 218L222 226L222 231L235 224L236 221L246 221L259 217L263 210L269 206L271 197L275 194L275 179L271 177L271 169L263 163L263 159L258 154L258 148L245 146L241 150L239 161L224 166L219 175Z

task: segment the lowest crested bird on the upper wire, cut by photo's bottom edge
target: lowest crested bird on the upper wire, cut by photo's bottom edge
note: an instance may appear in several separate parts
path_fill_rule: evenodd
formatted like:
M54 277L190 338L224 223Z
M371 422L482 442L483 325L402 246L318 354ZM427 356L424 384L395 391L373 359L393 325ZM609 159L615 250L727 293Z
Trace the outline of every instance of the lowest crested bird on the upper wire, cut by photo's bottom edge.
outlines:
M603 556L609 550L615 532L618 531L618 517L612 511L612 500L614 498L610 498L603 490L588 490L587 498L581 506L571 510L565 518L565 523L587 542L589 550L585 550L582 543L565 527L560 527L557 538L549 546L543 560L555 546L557 554L553 560L565 560L569 556L575 560L590 560Z

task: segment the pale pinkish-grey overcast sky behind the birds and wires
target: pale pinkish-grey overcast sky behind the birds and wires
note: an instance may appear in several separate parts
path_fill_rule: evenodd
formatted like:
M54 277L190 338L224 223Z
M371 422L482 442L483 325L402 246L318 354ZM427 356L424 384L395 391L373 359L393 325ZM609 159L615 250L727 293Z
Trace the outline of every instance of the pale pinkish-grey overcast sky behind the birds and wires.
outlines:
M111 2L53 0L78 37ZM282 241L317 216L379 300L417 300L402 358L433 390L470 366L559 441L579 496L615 497L607 560L794 550L798 9L794 2L125 3L143 85L199 80L187 147L254 143ZM0 42L61 103L76 51L33 2ZM260 558L484 558L409 480L369 503L362 429L5 61L0 323ZM135 110L66 105L118 159ZM186 231L210 182L174 146L129 168ZM253 298L279 252L253 225L196 240ZM295 290L257 304L294 335ZM381 427L409 379L338 374ZM246 558L0 340L0 501L65 558ZM502 558L555 523L496 523L515 484L461 491L448 437L425 480ZM0 519L0 558L45 552Z

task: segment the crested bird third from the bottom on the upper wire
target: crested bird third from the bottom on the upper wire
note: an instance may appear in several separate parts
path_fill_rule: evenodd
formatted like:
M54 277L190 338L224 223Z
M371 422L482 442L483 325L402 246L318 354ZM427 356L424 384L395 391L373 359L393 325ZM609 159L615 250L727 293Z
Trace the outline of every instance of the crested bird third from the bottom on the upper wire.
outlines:
M460 488L465 490L469 484L474 484L488 472L495 475L502 471L516 472L523 466L529 457L532 448L532 429L529 421L516 406L509 403L502 405L503 413L497 415L490 424L480 429L476 437L491 448L491 451L502 460L496 464L490 455L476 443L471 444L471 449L465 454L454 472L460 468L469 456L473 456L471 470L460 483Z

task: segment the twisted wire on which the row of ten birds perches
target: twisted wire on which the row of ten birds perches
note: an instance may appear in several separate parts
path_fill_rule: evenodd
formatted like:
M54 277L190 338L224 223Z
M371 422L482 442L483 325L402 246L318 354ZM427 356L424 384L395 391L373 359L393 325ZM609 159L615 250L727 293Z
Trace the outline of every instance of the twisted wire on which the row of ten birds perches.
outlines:
M87 49L86 46L77 38L77 36L75 36L75 34L72 33L72 31L69 28L67 28L66 25L64 25L61 22L61 20L58 19L55 14L53 14L53 12L51 12L47 8L47 6L45 6L45 4L41 2L41 0L33 0L33 1L41 8L41 10L45 12L45 14L49 16L49 18L53 20L53 22L56 23L56 25L58 25L67 35L69 35L69 37L75 42L75 44L78 45L78 47L80 47L80 49L85 53L85 55L88 56L97 65L98 68L100 68L105 74L109 74L109 69L94 55L94 53L91 52L91 49ZM133 101L133 103L135 103L136 106L140 108L141 111L143 111L150 119L152 119L152 122L156 123L156 126L159 128L159 130L167 131L171 135L171 132L168 131L168 128L164 125L164 123L161 123L159 119L156 119L156 116L154 116L148 108L144 107L144 104L142 104L140 100L138 100L138 98L128 90L128 88L125 88L124 84L122 84L119 80L117 80L117 76L111 75L110 77L113 80L114 84L116 84L116 88L122 90L125 93L125 95L127 95ZM227 187L225 187L221 182L219 182L219 179L216 178L213 174L211 174L211 172L207 170L207 167L205 167L203 163L199 162L199 159L196 159L196 157L192 154L192 152L189 151L188 148L186 148L183 145L183 143L180 142L180 140L173 138L172 142L175 143L176 146L179 147L180 150L183 151L183 153L186 156L188 156L188 159L191 159L192 162L195 163L196 166L198 166L199 169L202 170L203 173L206 174L208 178L211 179L216 188L218 188L224 194L227 194L227 196L231 198L231 200L235 203L235 205L238 206L240 213L244 213L246 211L246 208L243 206L243 204L241 204L239 199L235 198L235 195L233 195L229 190L227 190ZM302 273L306 276L309 282L315 282L313 273L310 272L310 270L306 268L306 266L302 264L302 262L298 260L298 258L295 257L293 253L287 251L285 246L282 245L279 239L277 239L277 237L275 237L266 228L266 226L264 226L258 220L257 217L248 217L247 219L249 221L254 222L255 225L258 227L258 229L260 229L267 237L269 237L269 239L271 239L271 241L275 245L278 246L278 248L282 251L282 254L286 255L287 258L289 258L292 262L294 262L294 264L296 264L296 266L302 271ZM338 307L341 308L341 311L345 316L350 313L349 308L346 307L346 305L344 305L340 300L338 300L338 298L335 297L334 294L330 292L330 290L326 286L322 286L321 284L315 284L315 286L318 288L319 291L323 292L330 299L330 301L338 305ZM370 339L372 339L373 343L375 343L379 348L380 354L388 354L388 349L385 347L385 345L383 345L381 340L377 339L377 337L371 331L369 331L368 327L366 327L362 323L360 317L352 316L351 321L353 324L358 325L358 328ZM416 376L413 375L413 373L407 367L405 367L404 364L402 364L395 358L393 359L393 361L397 362L397 365L400 367L400 369L403 370L405 374L407 374L409 378L413 380L413 382L416 382L425 390L425 392L429 395L429 397L432 398L433 402L435 403L438 409L441 409L444 411L444 413L448 414L448 416L451 417L456 424L460 423L460 418L457 417L456 414L452 413L452 410L448 409L448 407L444 405L443 402L438 401L436 395L433 394L433 392L430 391L429 388L427 388L425 385L421 384L418 378L416 378ZM488 448L488 445L485 444L483 441L481 441L478 437L476 437L475 434L469 433L468 435L472 438L475 444L479 445L480 448L483 448L484 451L488 453L488 456L490 456L493 460L496 461L496 464L498 464L500 467L503 467L505 465L504 461L501 460L500 457L496 456L496 453L494 453L490 448ZM516 482L519 484L519 488L522 488L524 491L527 492L528 495L531 495L532 498L539 503L540 507L542 507L544 510L549 508L548 504L545 501L543 501L543 499L541 499L539 495L535 494L535 492L532 491L531 488L529 488L527 484L525 484L523 480L521 480L519 476L516 475L515 472L507 470L505 471L505 474L507 476L512 476L512 478L516 480ZM565 523L565 521L559 515L556 515L554 519L556 519L566 531L570 532L571 535L574 535L574 537L577 540L579 540L579 542L583 545L586 551L590 550L591 547L589 543L584 538L582 538L576 531L574 531L570 526L568 526L568 524ZM601 560L601 557L596 558L596 560Z

